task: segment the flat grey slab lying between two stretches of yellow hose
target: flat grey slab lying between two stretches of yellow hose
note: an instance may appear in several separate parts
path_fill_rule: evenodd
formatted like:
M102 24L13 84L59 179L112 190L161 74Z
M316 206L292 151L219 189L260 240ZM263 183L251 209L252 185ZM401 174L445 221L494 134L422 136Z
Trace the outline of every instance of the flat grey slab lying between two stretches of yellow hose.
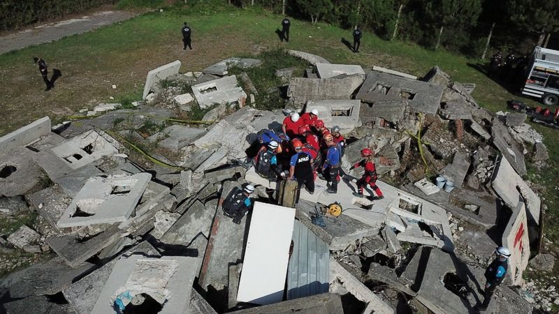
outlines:
M191 144L191 142L198 140L198 138L202 137L204 134L205 130L202 128L189 128L187 126L174 124L173 126L168 126L161 132L147 137L147 140L149 142L159 141L159 146L172 151L178 151L182 149L182 147Z

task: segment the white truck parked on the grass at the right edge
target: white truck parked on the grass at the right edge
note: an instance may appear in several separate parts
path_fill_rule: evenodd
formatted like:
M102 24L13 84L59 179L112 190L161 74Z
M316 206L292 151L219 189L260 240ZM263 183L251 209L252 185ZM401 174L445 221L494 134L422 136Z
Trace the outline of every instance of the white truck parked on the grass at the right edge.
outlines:
M526 74L523 95L539 98L544 105L559 104L559 51L535 47Z

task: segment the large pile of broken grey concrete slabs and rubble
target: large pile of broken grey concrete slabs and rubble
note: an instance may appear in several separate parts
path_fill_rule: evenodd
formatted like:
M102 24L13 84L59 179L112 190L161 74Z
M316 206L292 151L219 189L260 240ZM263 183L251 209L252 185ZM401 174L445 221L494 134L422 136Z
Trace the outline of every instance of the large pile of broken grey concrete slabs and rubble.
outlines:
M284 109L317 110L347 140L337 193L317 178L291 207L293 191L256 173L256 133L280 132L286 111L245 103L228 70L261 61L230 58L186 75L180 61L169 63L148 73L134 109L103 104L79 123L45 117L0 137L0 214L38 212L34 228L0 237L1 247L53 252L2 279L2 310L465 313L503 245L514 271L490 310L531 312L509 286L523 284L544 215L521 179L525 155L545 162L542 138L522 117L479 107L474 86L438 67L418 80L289 54L314 68L307 77L276 69L288 86ZM203 124L166 120L195 105L208 111ZM110 130L116 124L126 127ZM130 142L168 154L157 150L157 163L145 164ZM363 168L350 167L365 147L382 199L369 187L354 195ZM256 187L253 207L233 222L222 204L246 184ZM339 216L325 214L331 204ZM469 293L453 291L457 284Z

